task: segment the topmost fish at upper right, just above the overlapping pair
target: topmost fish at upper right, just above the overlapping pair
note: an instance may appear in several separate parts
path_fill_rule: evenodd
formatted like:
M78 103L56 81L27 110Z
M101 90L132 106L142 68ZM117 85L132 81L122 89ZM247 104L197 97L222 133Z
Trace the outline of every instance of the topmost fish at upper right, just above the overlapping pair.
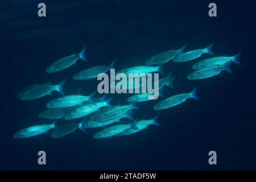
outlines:
M174 57L173 61L176 63L191 61L193 59L200 57L204 53L213 55L212 51L210 51L210 49L212 48L212 45L213 44L211 44L210 46L208 46L207 48L204 48L204 49L197 49L197 50L181 53L181 55Z

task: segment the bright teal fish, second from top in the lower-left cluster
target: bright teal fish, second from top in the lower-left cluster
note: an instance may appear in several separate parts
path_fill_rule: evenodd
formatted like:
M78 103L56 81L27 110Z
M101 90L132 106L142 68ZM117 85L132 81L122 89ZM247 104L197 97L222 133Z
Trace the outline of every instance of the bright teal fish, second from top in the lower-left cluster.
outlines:
M95 102L94 104L85 104L77 109L72 110L68 115L65 116L65 120L71 120L76 118L85 117L86 115L92 114L98 110L100 110L101 107L110 107L110 100L112 98L109 98L107 101L102 102Z

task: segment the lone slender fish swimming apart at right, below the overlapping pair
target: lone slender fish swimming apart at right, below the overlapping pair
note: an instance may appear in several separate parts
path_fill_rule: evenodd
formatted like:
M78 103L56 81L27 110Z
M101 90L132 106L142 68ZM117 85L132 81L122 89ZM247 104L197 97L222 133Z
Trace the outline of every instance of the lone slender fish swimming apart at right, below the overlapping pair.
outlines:
M176 105L179 105L185 102L188 98L199 100L199 98L196 96L196 92L197 92L197 88L193 89L191 93L183 93L183 94L178 94L176 96L168 97L165 100L158 102L158 104L154 106L154 109L155 110L168 109L170 107L174 107Z

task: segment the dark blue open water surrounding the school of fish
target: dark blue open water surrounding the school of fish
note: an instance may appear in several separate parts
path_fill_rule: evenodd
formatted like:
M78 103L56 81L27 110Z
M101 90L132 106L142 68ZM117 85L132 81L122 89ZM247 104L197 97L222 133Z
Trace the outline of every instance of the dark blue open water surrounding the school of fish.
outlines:
M1 2L1 147L0 169L256 169L255 120L255 3L214 1L217 17L208 16L212 1L43 1L47 16L39 18L41 1ZM254 34L253 34L254 33ZM98 129L76 131L64 138L39 135L14 139L16 131L51 123L40 119L53 92L35 101L20 101L16 93L32 84L58 83L64 78L66 94L82 87L97 89L97 81L75 81L82 69L110 64L116 69L142 65L159 52L188 44L187 51L213 43L215 55L243 52L233 73L189 81L192 62L164 64L174 70L175 90L199 88L200 101L188 100L172 109L155 111L155 101L138 104L135 118L159 114L160 127L151 126L126 137L93 139ZM63 72L49 75L48 65L87 46L88 63L77 61ZM209 57L204 55L204 57ZM128 96L115 95L112 104L125 104ZM64 121L62 121L64 122ZM47 165L38 165L38 151ZM208 164L208 152L217 152L217 165Z

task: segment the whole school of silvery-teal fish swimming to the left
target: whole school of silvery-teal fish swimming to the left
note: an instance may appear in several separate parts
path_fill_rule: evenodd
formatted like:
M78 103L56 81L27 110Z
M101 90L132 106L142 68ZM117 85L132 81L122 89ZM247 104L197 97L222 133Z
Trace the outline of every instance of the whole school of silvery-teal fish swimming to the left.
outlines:
M163 98L162 91L165 86L175 89L175 76L172 71L170 71L170 73L164 77L163 64L168 61L173 61L176 64L184 64L185 62L193 61L193 71L187 75L188 80L203 80L221 75L224 71L232 73L230 64L235 63L241 65L238 61L241 52L234 56L214 56L211 51L212 46L211 44L208 47L185 52L185 48L187 47L187 45L185 45L177 50L172 49L170 51L160 52L148 58L145 61L145 65L126 68L117 73L124 73L125 75L129 73L160 73L163 77L159 80L160 97L158 97L158 100L160 101L156 100L154 110L170 109L171 107L186 102L189 98L199 100L199 97L197 97L197 88L193 88L193 90L191 89L192 91L188 90L189 92ZM204 54L210 57L196 62L196 60ZM88 62L86 58L86 47L82 48L81 52L78 54L74 53L73 55L63 57L53 62L46 69L46 72L53 74L63 71L75 64L77 60ZM86 68L73 75L73 80L96 79L102 73L109 72L110 69L114 68L115 63L116 61L114 60L107 65ZM148 96L151 93L133 94L133 96L127 98L127 104L112 106L112 97L106 98L105 95L101 98L96 98L95 95L97 91L86 96L80 93L66 96L63 90L64 84L65 80L57 85L53 85L51 82L42 85L35 84L27 86L18 92L17 98L22 101L37 100L46 95L51 95L53 91L59 92L60 97L48 102L46 104L46 110L38 115L40 118L52 119L52 122L48 125L34 125L22 129L14 134L14 138L35 137L41 134L51 134L51 138L61 138L76 130L85 131L100 128L99 131L93 135L93 138L101 139L132 135L144 129L148 129L150 125L160 126L158 122L159 115L147 119L134 119L133 116L133 110L139 109L136 103L150 101ZM136 88L136 85L134 87ZM77 120L73 121L73 119L77 118L81 120L79 122L77 122ZM59 120L56 119L61 119L62 125L59 125Z

